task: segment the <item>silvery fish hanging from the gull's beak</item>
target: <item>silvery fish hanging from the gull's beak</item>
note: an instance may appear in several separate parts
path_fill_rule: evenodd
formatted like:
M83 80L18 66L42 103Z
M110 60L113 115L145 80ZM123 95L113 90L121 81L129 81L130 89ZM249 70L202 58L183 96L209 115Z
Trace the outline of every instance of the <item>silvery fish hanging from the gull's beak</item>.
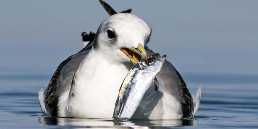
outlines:
M113 118L128 120L133 116L144 93L162 68L166 57L166 55L161 57L157 53L148 57L147 62L141 60L130 69L119 89Z

